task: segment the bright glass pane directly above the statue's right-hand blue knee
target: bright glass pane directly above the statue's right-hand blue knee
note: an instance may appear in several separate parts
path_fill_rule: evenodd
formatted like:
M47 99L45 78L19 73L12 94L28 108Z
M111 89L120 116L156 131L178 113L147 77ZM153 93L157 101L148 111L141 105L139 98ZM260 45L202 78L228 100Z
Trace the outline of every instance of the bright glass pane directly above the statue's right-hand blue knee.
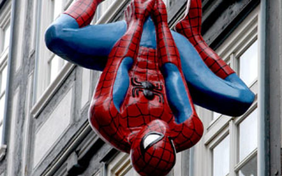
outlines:
M240 78L248 86L258 77L258 41L241 55L239 70Z

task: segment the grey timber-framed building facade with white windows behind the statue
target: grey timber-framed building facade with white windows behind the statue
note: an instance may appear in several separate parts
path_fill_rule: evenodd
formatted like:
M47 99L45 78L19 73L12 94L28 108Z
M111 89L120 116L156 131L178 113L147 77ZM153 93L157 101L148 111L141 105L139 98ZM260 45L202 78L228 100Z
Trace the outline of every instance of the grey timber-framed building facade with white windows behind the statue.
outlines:
M75 0L0 0L0 175L137 176L129 155L95 134L88 108L100 72L46 48L46 28ZM92 24L122 20L106 0ZM186 0L165 0L173 29ZM204 135L170 176L281 175L282 2L202 0L206 42L256 94L228 117L196 107ZM101 31L102 32L102 31Z

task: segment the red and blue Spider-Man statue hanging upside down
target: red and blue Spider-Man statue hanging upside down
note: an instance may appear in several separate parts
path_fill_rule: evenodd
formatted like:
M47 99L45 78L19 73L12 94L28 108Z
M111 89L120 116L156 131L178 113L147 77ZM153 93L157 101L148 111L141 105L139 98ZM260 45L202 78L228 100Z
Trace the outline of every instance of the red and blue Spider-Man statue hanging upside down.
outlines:
M201 36L201 0L188 0L175 30L162 0L131 0L125 21L89 25L103 0L77 0L46 31L47 47L103 71L89 121L130 153L140 175L166 175L176 152L195 145L203 125L194 103L240 116L254 94Z

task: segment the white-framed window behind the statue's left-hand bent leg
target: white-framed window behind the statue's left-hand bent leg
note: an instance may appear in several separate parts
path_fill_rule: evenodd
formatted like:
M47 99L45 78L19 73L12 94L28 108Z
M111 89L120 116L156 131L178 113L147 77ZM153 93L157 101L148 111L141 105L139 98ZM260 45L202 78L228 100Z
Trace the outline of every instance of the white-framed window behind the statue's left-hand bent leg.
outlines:
M74 68L73 64L66 62L64 59L61 59L59 56L49 51L44 42L45 30L74 2L75 0L37 1L39 7L39 14L37 14L37 16L39 16L40 19L38 20L38 29L36 29L38 37L36 40L37 44L35 45L37 49L35 50L34 106L31 110L34 117L36 117L44 107L44 103L47 103L46 99L55 93L55 90L61 85L60 83ZM101 16L106 13L108 7L114 2L117 2L117 0L107 0L101 3L99 6L101 10L99 12L99 9L97 9L96 14ZM125 1L122 1L122 3L124 4ZM112 11L119 12L121 7L114 8L109 13L112 14ZM107 21L108 19L110 19L110 17L105 15L104 20Z

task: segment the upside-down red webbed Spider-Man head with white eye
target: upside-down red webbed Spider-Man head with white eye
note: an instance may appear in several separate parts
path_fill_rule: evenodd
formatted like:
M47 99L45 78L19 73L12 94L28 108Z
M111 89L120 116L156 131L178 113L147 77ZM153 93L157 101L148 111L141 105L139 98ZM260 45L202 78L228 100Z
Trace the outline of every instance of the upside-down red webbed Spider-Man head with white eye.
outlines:
M140 175L166 175L175 164L175 148L170 128L164 121L154 120L136 136L130 157Z

